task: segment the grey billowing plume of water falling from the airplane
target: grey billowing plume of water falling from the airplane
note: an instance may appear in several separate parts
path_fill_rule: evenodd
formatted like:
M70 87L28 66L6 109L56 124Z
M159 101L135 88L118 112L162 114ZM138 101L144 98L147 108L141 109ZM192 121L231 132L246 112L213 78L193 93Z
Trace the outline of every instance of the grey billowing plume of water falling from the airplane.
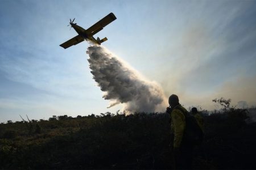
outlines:
M86 53L93 79L105 92L103 98L110 100L108 108L123 103L123 110L129 113L155 112L165 101L158 84L142 78L102 46L89 46Z

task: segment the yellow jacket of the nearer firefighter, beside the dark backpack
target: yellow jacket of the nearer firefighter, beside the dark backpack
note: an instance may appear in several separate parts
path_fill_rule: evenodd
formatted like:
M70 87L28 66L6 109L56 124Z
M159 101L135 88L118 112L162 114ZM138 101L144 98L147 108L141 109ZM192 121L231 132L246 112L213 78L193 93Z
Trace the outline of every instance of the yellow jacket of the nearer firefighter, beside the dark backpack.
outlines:
M174 147L180 147L184 129L185 129L185 116L178 109L174 109L171 113L172 129L174 131Z

